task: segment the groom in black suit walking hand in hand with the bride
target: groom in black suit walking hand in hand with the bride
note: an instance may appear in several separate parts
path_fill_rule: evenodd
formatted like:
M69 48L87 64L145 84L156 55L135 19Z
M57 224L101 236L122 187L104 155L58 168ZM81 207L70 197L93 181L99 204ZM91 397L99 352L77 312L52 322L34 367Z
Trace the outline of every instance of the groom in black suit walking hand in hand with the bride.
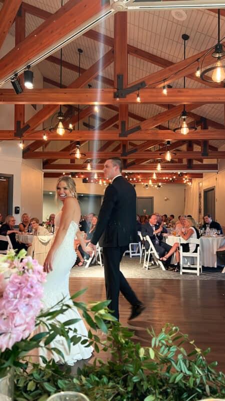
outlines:
M111 180L104 192L98 221L89 246L95 250L100 237L103 247L104 279L106 298L111 302L109 309L119 320L119 291L131 304L128 320L137 317L144 305L119 270L120 260L129 243L136 242L136 192L133 186L122 177L122 161L117 157L107 159L104 163L104 176Z

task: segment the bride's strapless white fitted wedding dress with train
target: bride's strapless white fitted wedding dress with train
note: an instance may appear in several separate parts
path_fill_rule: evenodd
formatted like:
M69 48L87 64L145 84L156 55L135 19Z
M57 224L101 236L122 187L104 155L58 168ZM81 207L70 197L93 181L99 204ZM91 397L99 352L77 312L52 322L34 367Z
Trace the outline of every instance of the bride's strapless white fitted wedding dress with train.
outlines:
M61 212L55 216L55 233L59 227L60 217ZM70 269L76 260L76 253L74 251L74 238L76 236L77 229L77 224L74 221L71 221L62 243L54 254L53 270L47 274L47 281L44 283L44 295L42 298L44 309L54 306L63 297L65 297L65 303L70 303L73 305L71 301L68 302L70 297L68 284ZM82 341L84 338L87 338L86 327L75 306L72 306L72 309L68 309L65 313L56 317L56 320L60 322L70 319L80 319L79 322L77 322L75 325L71 325L70 327L75 327L77 329L77 335L81 336L80 341ZM72 335L73 334L71 333L70 337ZM58 348L63 353L65 362L68 365L73 365L77 360L89 358L93 351L91 346L85 347L84 345L81 345L80 342L75 345L71 344L69 351L66 340L60 336L56 336L49 345L50 347ZM51 359L53 357L56 362L64 363L64 360L55 352L52 354L45 349L41 349L41 355L45 356L47 359Z

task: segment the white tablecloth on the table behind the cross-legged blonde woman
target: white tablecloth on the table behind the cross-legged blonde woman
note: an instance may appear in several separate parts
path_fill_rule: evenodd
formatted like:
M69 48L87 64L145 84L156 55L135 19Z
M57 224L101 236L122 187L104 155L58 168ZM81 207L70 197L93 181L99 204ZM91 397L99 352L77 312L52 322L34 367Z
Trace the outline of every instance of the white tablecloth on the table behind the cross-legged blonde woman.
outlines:
M165 242L168 245L173 245L179 242L179 237L164 236ZM216 267L216 250L225 245L225 237L201 237L200 238L200 254L201 264L205 267Z

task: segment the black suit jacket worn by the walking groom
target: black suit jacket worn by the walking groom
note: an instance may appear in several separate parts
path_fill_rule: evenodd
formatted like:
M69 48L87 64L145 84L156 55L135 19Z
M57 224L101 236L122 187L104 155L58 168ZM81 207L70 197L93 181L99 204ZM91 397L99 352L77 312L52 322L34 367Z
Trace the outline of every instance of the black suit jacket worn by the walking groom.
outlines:
M96 245L98 241L109 248L137 242L136 192L121 175L105 189L91 243Z

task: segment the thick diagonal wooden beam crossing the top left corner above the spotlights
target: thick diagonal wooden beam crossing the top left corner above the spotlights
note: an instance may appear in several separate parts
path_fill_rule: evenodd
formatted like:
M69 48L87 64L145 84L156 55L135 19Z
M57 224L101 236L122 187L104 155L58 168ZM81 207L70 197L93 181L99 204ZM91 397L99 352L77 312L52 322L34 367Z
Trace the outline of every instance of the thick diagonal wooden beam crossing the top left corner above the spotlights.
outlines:
M13 75L19 68L30 64L35 58L49 50L62 38L75 32L88 19L106 9L100 0L68 0L55 14L52 14L38 28L31 32L24 41L10 50L0 60L0 81ZM28 58L27 58L28 56Z

